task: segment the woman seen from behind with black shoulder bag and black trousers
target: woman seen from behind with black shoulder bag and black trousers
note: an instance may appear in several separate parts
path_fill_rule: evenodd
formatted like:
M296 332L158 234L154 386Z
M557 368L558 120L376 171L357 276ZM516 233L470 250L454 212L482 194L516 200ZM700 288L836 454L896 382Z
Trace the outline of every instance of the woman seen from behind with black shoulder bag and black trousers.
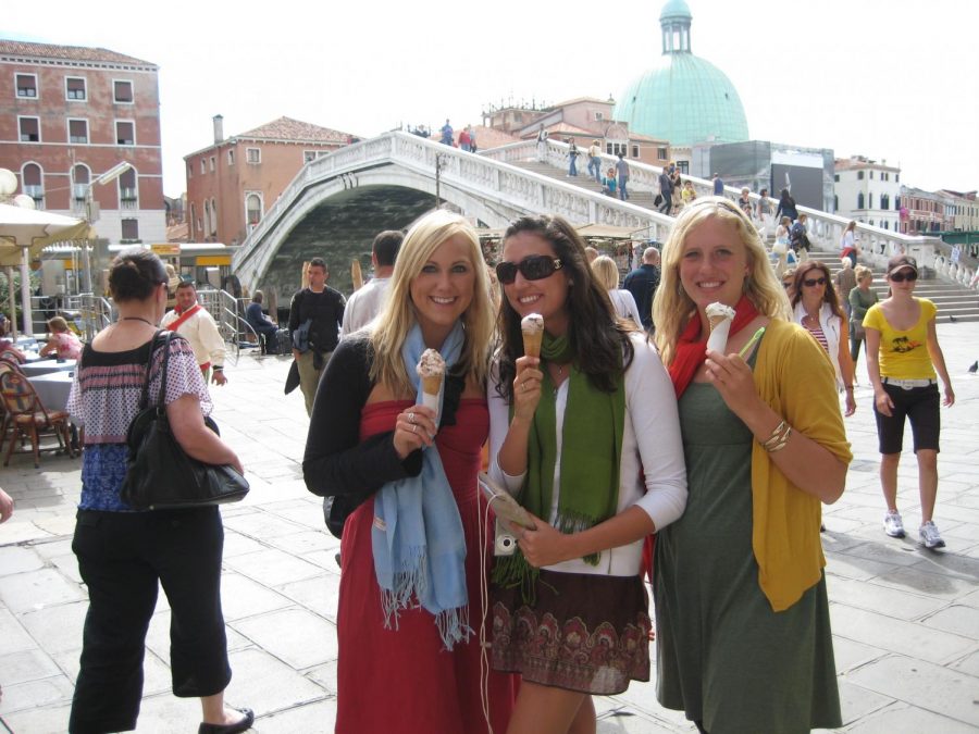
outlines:
M201 699L198 731L233 734L255 720L248 709L224 706L231 668L221 612L224 528L218 508L136 512L120 497L126 433L139 412L147 369L149 395L160 390L164 354L156 336L166 283L163 263L149 251L134 248L113 261L109 287L120 318L85 347L69 398L70 412L85 422L72 550L89 595L71 732L136 727L158 585L172 613L173 692ZM211 399L190 346L174 336L168 356L164 402L177 443L195 459L241 472L235 452L205 424Z

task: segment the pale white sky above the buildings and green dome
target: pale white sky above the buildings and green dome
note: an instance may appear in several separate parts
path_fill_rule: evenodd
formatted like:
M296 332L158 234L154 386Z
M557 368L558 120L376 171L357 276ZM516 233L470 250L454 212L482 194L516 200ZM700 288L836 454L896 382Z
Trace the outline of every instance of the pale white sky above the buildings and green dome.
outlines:
M929 190L979 188L979 3L687 4L693 52L733 82L752 139L887 160ZM660 55L662 5L176 0L127 14L52 0L5 13L0 37L157 64L164 191L178 196L183 157L213 141L218 113L226 136L285 115L370 137L479 124L501 100L618 96Z

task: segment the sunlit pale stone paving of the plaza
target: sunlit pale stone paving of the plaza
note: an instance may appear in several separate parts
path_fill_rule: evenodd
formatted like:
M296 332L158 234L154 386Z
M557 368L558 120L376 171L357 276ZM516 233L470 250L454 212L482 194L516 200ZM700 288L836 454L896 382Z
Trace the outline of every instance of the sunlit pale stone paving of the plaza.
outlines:
M942 323L938 332L957 396L953 408L942 409L935 522L944 550L916 545L920 515L909 451L900 470L908 537L892 539L881 530L863 358L857 369L858 410L846 419L855 458L846 492L826 508L823 535L840 731L979 730L979 376L967 372L979 359L979 323ZM228 384L212 388L222 435L252 487L244 502L223 510L222 596L234 670L227 700L255 709L255 731L262 734L332 732L336 711L339 542L325 531L320 500L302 482L307 418L299 390L283 395L288 365L286 358L243 353L228 365ZM14 517L0 525L0 732L46 734L67 724L87 606L71 551L79 475L80 460L50 455L38 470L27 455L0 468L0 486L16 501ZM200 721L197 699L170 693L169 618L161 595L147 639L139 732L186 733ZM598 732L695 731L681 713L657 705L654 685L633 684L599 699Z

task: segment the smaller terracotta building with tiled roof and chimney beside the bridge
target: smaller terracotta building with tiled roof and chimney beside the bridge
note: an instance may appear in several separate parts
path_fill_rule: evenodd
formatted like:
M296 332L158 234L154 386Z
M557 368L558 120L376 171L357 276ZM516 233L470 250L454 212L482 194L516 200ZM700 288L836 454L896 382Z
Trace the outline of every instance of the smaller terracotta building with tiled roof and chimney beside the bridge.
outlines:
M355 140L289 117L225 138L215 115L214 144L184 157L190 241L240 245L303 165Z

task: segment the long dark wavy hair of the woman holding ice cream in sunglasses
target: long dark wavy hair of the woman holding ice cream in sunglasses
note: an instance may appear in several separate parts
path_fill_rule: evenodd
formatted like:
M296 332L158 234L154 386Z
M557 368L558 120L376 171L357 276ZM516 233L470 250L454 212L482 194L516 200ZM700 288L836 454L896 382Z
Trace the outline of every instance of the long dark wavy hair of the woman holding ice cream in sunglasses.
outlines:
M574 365L587 375L597 389L614 393L615 377L632 363L633 349L629 334L636 331L634 325L616 315L608 291L592 274L581 235L566 220L547 214L521 216L507 228L504 247L507 239L523 232L549 242L561 261L561 270L568 275L565 308L568 309L568 339L574 354ZM512 402L516 363L518 358L523 357L523 334L520 331L520 314L507 300L503 285L500 289L503 298L498 329L501 343L497 390L508 402Z

